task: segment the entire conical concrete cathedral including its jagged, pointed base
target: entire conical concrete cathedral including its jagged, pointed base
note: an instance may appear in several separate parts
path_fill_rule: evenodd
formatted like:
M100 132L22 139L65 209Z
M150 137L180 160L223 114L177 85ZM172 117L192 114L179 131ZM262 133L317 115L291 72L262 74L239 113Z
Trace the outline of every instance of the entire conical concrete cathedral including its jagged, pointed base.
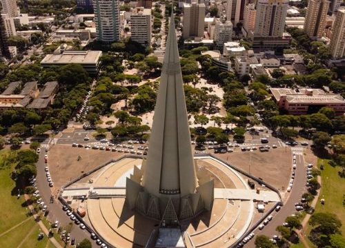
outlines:
M190 145L173 14L166 41L148 159L127 178L126 201L150 218L177 223L213 206L213 180L197 178Z

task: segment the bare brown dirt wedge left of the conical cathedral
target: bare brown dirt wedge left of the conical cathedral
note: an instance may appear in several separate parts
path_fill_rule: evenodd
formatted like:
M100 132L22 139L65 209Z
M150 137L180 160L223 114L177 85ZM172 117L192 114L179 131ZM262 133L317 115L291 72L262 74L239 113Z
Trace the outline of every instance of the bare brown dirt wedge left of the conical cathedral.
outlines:
M123 154L105 150L54 145L49 152L49 170L55 187L60 188L72 178L121 155Z

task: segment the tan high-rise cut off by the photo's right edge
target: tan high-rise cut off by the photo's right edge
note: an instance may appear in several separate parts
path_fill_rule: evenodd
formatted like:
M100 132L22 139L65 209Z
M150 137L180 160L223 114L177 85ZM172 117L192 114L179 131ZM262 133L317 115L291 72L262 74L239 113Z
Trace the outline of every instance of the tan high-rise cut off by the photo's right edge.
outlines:
M333 59L340 59L345 56L345 10L337 11L329 52Z

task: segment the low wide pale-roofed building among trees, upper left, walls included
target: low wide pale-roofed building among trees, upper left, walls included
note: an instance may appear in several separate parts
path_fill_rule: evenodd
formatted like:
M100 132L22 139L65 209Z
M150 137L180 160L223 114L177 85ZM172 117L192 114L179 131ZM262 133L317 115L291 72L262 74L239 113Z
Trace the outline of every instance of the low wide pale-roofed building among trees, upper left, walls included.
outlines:
M41 61L43 68L62 66L71 63L80 64L89 74L99 71L101 51L65 51L59 54L47 54Z

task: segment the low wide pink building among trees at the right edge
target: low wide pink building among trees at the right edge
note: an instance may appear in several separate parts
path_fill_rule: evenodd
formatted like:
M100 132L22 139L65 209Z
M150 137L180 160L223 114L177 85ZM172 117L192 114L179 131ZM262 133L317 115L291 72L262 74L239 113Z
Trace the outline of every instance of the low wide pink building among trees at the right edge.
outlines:
M313 114L322 107L331 107L337 115L345 113L345 100L339 94L327 94L319 89L286 88L270 88L270 92L279 108L289 114Z

